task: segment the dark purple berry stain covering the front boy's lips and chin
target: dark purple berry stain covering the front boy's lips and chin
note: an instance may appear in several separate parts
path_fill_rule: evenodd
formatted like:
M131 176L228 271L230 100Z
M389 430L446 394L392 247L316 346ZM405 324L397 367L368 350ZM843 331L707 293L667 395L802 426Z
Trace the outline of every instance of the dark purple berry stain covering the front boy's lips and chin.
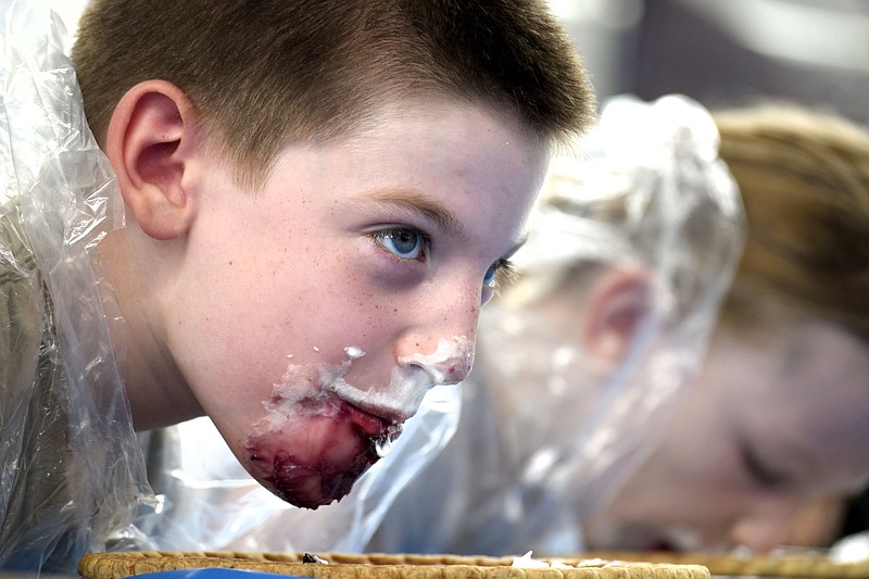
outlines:
M316 509L344 498L400 432L401 425L339 401L251 437L249 470L280 499Z

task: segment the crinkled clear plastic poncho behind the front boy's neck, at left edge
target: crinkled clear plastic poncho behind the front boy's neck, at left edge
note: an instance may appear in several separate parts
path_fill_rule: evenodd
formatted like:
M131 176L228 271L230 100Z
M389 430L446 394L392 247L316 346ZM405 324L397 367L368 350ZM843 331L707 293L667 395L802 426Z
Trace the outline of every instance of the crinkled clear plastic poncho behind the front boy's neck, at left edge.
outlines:
M0 568L72 574L149 496L97 249L123 203L62 23L0 9Z

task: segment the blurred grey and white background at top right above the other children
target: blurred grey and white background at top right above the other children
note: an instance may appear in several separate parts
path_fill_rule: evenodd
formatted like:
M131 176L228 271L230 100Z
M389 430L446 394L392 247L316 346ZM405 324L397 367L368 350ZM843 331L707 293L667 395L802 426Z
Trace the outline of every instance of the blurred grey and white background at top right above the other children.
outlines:
M869 0L550 0L601 99L788 100L869 124Z

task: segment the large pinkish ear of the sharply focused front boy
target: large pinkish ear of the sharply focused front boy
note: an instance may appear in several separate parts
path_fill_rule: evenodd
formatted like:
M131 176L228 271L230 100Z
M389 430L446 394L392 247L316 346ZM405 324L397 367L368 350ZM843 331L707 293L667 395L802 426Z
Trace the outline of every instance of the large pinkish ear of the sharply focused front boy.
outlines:
M193 106L180 89L147 80L124 95L109 124L105 152L124 201L155 239L182 235L194 215L182 178L198 149L193 119Z

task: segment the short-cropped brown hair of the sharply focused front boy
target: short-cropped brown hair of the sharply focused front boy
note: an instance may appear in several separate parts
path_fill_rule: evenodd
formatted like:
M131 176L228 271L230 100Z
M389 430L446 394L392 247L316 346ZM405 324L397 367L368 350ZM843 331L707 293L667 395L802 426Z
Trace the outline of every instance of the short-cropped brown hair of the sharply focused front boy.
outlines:
M73 60L100 142L129 88L167 80L249 182L287 142L345 134L386 99L492 103L543 142L595 114L543 0L92 0Z

